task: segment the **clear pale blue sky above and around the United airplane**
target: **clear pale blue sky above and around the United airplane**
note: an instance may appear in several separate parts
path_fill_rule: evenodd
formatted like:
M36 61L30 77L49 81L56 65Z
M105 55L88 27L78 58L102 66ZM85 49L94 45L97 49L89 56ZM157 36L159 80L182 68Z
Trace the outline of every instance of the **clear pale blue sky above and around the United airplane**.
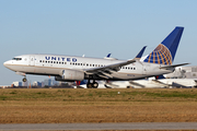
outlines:
M184 26L174 63L197 66L196 0L0 0L0 85L22 76L3 67L14 56L57 53L131 59ZM47 76L27 75L33 81Z

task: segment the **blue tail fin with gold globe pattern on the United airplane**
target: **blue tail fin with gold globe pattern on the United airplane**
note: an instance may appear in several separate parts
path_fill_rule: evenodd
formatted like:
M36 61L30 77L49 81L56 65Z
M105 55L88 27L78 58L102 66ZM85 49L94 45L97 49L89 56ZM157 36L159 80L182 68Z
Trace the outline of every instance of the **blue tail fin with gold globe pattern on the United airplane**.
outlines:
M184 27L174 31L143 60L144 62L172 64L182 37Z

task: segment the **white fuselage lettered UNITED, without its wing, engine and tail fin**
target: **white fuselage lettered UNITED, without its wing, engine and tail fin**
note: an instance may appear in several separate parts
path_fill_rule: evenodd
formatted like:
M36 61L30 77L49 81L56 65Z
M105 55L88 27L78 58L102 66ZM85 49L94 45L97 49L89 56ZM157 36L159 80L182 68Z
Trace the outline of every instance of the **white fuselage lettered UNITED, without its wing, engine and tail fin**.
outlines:
M60 76L62 70L83 71L85 69L96 69L119 62L124 62L124 60L57 55L23 55L3 64L12 71L25 74ZM135 80L172 72L172 70L160 69L160 67L162 67L162 64L136 61L121 67L117 72L113 72L111 74L113 78L109 80ZM99 80L105 79L101 78Z

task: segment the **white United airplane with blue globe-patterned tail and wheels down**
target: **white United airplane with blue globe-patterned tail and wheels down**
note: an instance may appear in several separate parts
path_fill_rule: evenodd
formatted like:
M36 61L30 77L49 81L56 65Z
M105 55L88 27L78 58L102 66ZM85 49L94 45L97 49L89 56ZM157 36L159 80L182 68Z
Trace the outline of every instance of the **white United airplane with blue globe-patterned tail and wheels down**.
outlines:
M176 67L188 63L172 64L184 27L176 26L159 46L140 61L146 46L134 59L103 59L60 55L22 55L5 61L3 66L16 74L50 75L56 81L74 82L88 80L88 88L96 88L95 80L129 81L172 73Z

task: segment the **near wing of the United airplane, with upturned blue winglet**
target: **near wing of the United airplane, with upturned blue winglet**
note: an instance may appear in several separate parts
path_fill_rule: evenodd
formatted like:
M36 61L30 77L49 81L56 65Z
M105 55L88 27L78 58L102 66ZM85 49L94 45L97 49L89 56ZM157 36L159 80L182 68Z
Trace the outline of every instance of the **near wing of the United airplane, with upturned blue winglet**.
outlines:
M92 68L92 69L85 69L83 70L86 74L96 74L101 78L105 78L105 79L108 79L108 78L113 78L111 74L113 72L117 72L120 70L120 67L124 67L124 66L127 66L127 64L130 64L130 63L134 63L136 62L136 60L140 59L144 49L146 49L147 46L144 46L140 52L136 56L135 59L131 59L131 60L127 60L127 61L124 61L124 62L119 62L119 63L114 63L114 64L108 64L108 66L105 66L105 67L99 67L99 68Z

